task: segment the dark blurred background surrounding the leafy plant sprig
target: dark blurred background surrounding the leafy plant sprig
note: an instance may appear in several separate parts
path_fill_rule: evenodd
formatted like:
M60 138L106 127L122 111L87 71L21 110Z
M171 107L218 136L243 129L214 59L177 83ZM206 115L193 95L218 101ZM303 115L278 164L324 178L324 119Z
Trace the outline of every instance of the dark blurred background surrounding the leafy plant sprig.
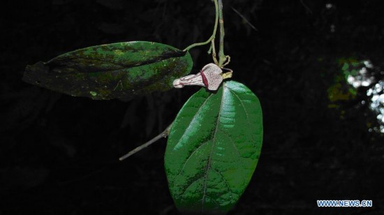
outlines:
M339 80L348 98L329 96L343 59L371 61L373 84L383 80L382 1L223 1L228 68L260 99L265 131L256 172L230 214L384 214L384 141L369 109L372 85L348 96ZM212 34L213 3L0 4L0 214L177 214L165 140L117 158L163 131L198 88L92 101L21 77L27 64L90 45L149 40L183 49ZM191 51L193 73L212 61L207 50ZM316 205L339 199L374 207Z

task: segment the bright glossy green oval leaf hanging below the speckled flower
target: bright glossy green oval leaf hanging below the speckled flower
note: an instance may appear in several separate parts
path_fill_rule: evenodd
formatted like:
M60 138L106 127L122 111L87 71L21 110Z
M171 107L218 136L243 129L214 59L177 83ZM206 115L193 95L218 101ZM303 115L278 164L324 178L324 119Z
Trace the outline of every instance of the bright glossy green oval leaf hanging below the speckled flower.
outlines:
M172 124L165 151L170 193L184 212L228 212L258 163L263 115L244 84L224 82L189 98Z

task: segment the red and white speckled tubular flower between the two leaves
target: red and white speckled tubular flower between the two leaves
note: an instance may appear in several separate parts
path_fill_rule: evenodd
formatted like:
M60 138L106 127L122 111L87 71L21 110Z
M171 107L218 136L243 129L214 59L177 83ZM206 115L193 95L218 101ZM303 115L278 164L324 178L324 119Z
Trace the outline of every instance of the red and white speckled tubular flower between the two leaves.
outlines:
M214 91L223 82L222 73L223 71L216 64L207 64L196 75L186 75L174 80L173 87L182 88L186 85L197 85Z

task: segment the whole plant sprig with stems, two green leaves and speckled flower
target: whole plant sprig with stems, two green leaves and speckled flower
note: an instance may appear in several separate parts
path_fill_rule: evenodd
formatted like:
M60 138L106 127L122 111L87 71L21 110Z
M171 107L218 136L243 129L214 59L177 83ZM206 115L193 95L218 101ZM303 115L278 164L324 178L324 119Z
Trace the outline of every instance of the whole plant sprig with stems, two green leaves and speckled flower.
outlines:
M146 41L96 45L29 65L23 76L38 87L94 100L126 100L173 87L201 86L163 133L120 158L168 136L165 173L181 212L228 212L249 184L263 142L258 98L244 84L229 80L232 70L224 68L230 57L223 50L223 2L214 0L214 6L212 36L184 50ZM193 64L189 50L209 43L214 63L187 75Z

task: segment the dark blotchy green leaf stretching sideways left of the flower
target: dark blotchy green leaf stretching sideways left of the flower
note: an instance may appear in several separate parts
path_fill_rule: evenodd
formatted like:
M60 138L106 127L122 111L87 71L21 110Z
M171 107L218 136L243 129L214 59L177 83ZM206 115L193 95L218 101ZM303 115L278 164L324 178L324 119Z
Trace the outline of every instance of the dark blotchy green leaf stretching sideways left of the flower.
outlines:
M23 80L72 96L128 99L165 91L191 71L192 59L161 43L135 41L86 47L29 65Z

